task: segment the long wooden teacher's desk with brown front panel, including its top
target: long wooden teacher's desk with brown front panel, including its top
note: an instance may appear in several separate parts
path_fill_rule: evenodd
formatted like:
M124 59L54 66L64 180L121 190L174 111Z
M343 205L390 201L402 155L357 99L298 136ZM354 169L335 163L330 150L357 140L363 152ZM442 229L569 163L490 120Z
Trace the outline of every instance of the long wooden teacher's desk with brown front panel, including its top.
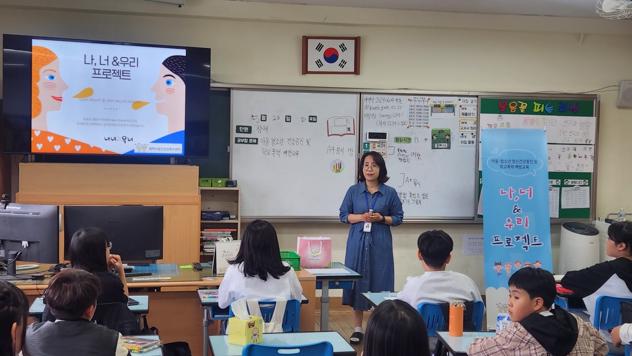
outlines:
M222 276L215 276L210 268L195 271L195 269L181 269L179 266L188 266L191 262L178 263L178 275L162 281L133 281L127 279L130 290L148 288L143 292L130 292L133 298L135 294L149 295L152 304L152 313L148 317L150 326L155 326L165 340L164 342L186 341L191 347L193 355L202 355L203 343L200 342L199 332L202 329L201 321L204 310L200 308L200 298L197 290L200 288L217 288L222 283ZM25 275L45 273L50 264L40 264L39 269L25 271ZM304 269L295 271L298 280L303 287L303 294L309 300L316 299L316 278ZM209 276L215 279L204 279ZM149 277L149 276L147 276ZM152 276L154 277L154 276ZM155 276L160 277L160 276ZM146 278L146 277L141 277ZM50 279L43 281L12 281L29 297L29 302L40 297L48 286ZM154 293L161 292L161 293ZM200 323L200 324L198 324ZM300 330L313 331L315 326L315 304L310 303L301 307Z

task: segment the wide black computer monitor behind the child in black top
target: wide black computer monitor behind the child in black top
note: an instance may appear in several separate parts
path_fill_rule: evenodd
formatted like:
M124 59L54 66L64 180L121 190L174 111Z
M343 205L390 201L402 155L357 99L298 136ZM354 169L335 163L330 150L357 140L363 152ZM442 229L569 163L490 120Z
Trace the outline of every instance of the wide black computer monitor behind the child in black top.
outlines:
M162 206L64 206L64 257L77 230L100 228L125 262L162 259Z

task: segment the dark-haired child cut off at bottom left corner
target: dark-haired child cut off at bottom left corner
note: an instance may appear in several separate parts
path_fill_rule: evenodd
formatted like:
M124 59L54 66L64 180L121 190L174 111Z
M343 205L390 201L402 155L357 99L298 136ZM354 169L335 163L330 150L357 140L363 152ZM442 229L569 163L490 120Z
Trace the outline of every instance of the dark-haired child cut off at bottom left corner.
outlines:
M0 281L0 356L15 356L21 352L27 319L27 296L15 285Z

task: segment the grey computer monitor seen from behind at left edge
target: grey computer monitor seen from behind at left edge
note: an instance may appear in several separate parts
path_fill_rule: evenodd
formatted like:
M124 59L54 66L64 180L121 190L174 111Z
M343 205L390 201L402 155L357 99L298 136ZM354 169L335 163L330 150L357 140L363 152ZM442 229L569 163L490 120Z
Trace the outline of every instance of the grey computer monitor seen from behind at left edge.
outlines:
M59 263L60 220L58 206L9 203L0 209L0 261L8 264L0 279L22 279L11 276L15 261Z

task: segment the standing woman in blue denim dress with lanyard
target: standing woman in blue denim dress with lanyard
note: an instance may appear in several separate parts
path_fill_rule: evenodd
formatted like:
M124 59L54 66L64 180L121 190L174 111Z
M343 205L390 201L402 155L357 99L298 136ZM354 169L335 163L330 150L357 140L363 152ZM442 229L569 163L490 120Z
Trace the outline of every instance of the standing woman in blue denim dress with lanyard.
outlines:
M365 153L358 168L360 183L349 188L340 207L340 221L351 224L344 264L362 274L353 289L343 291L343 304L353 307L353 344L362 340L363 312L370 308L360 293L394 289L391 226L402 223L404 212L396 190L384 184L388 180L382 156ZM365 223L371 223L370 231Z

